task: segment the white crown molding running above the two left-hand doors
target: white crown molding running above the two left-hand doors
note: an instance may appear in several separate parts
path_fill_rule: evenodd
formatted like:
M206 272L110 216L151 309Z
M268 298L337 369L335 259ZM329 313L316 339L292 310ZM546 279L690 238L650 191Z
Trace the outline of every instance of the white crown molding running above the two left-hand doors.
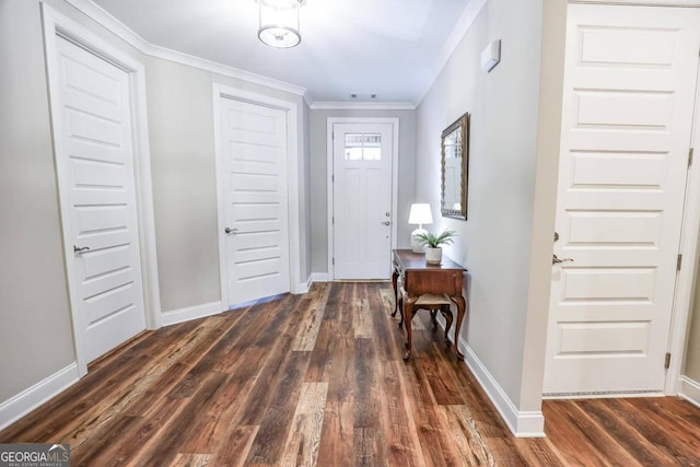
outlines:
M188 67L198 68L200 70L210 71L218 74L223 74L224 77L234 78L253 84L259 84L278 91L284 91L299 96L304 96L304 94L306 93L305 87L298 86L295 84L153 45L138 35L136 32L130 30L126 24L100 8L92 0L66 1L74 7L78 11L85 14L88 17L95 21L97 24L119 37L125 43L129 44L140 52L150 57L170 60L176 63L186 65Z

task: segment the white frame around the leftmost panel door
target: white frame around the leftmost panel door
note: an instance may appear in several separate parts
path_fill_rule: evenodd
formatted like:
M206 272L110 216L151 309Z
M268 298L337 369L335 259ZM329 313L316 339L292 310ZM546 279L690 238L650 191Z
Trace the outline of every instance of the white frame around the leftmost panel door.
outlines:
M145 323L149 329L158 329L161 320L161 295L159 289L158 261L155 253L155 222L153 218L153 189L151 186L151 154L149 148L148 114L145 107L145 79L144 67L122 51L113 47L107 42L92 34L86 28L58 13L56 10L42 2L44 16L44 46L46 49L46 67L48 74L49 104L54 133L54 153L56 157L56 176L58 178L58 195L61 215L61 230L63 241L63 259L66 276L68 278L68 291L73 324L73 340L75 346L75 360L80 376L88 373L85 355L85 342L82 329L85 328L80 311L80 297L78 284L68 267L69 258L73 256L70 230L67 220L70 219L70 196L66 189L68 174L66 164L59 163L66 156L63 144L56 135L60 131L60 108L55 105L59 95L58 87L58 40L63 38L81 47L91 54L113 63L129 74L131 90L131 131L133 136L133 167L135 187L137 199L137 219L139 230L139 243L141 252L141 276L143 278L143 307Z

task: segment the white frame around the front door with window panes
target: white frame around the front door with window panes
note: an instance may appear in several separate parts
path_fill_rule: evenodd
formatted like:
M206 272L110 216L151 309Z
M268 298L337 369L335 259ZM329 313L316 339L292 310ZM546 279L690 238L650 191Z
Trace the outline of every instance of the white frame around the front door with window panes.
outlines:
M326 191L327 191L327 229L328 229L328 280L335 280L336 271L332 264L335 238L332 233L332 207L334 207L334 154L332 154L332 127L336 124L389 124L392 125L392 246L396 247L397 238L397 210L398 210L398 118L378 117L328 117L326 120ZM390 252L388 252L390 254ZM388 256L390 257L390 255Z

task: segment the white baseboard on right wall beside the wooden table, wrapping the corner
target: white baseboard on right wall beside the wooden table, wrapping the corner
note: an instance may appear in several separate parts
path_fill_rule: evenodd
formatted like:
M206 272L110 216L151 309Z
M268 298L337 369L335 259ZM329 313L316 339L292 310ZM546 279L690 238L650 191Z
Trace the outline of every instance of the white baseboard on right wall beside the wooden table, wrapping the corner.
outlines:
M444 326L444 325L443 325ZM540 411L517 410L501 385L493 378L477 354L459 337L459 349L464 350L465 362L486 392L493 406L515 437L545 437L545 415Z

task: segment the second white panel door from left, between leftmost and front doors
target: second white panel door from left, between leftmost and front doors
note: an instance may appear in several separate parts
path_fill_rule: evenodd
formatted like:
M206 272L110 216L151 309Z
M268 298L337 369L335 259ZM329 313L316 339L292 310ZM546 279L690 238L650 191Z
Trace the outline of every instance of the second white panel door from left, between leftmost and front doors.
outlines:
M290 291L284 110L221 97L229 306Z

